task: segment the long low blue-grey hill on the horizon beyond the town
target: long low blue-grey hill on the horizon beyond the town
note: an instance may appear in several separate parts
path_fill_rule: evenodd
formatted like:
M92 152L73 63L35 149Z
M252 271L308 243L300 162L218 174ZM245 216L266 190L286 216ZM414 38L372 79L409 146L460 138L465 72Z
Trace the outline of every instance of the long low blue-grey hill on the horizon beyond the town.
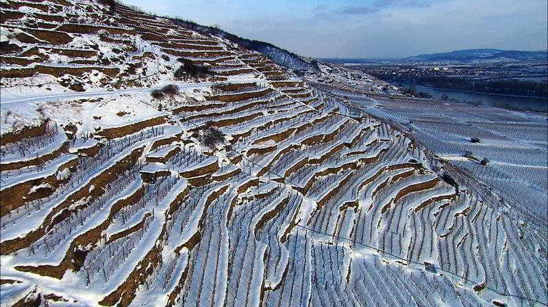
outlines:
M547 62L548 51L513 51L501 49L467 49L405 57L403 62Z

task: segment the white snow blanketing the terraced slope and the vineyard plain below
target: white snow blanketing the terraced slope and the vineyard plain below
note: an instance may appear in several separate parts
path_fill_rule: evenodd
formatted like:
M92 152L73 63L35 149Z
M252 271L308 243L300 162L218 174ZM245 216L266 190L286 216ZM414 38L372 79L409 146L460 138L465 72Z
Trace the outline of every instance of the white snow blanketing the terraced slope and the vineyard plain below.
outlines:
M103 16L98 3L73 4L52 16L74 14L83 23L119 23L116 15ZM85 10L88 7L97 10L101 18L96 21L90 17ZM21 8L21 12L31 11L35 9ZM183 42L169 37L180 32L171 29L175 26L166 19L135 20L151 31L167 33L166 42ZM166 23L170 27L164 27ZM116 29L129 27L121 24ZM25 27L3 27L1 35L25 31ZM543 268L547 263L542 257L546 240L540 232L545 218L541 175L546 169L546 139L538 136L542 133L532 133L545 131L545 116L369 98L364 93L378 92L386 84L350 67L321 62L319 72L303 72L307 85L275 88L257 68L271 66L273 71L284 72L280 81L303 79L259 53L236 49L230 49L232 55L209 57L197 51L194 58L225 59L212 66L213 70L235 70L238 65L252 69L251 74L229 76L219 82L176 81L167 66L176 69L180 65L177 57L162 57L166 53L158 42L147 42L133 34L111 36L129 40L136 48L118 54L114 48L123 49L123 44L105 42L96 34L71 36L72 42L55 48L98 51L92 59L99 59L99 53L108 59L119 54L125 58L116 64L86 65L89 70L84 77L62 77L83 81L84 92L68 90L50 75L3 79L8 87L2 88L0 97L1 135L39 124L45 118L57 124L59 132L26 140L34 145L25 155L7 150L2 163L47 155L62 144L69 148L39 167L1 172L2 191L32 180L37 184L30 187L29 196L39 189L55 190L53 195L23 203L2 217L3 244L28 235L42 224L47 230L33 241L32 248L0 256L2 279L21 281L1 285L2 305L13 304L37 285L36 291L42 295L55 293L69 299L49 301L53 306L97 306L134 269L147 269L147 277L145 283L136 286L131 306L165 306L173 297L175 304L227 307L258 306L261 298L265 306L489 306L493 299L519 306L519 299L510 295L546 302ZM195 32L190 40L196 42L188 44L203 46L208 46L204 40L210 40L223 50L233 45ZM84 66L69 63L79 57L50 52L53 46L39 47L41 53L50 56L52 63L47 66ZM153 56L136 59L145 52ZM267 52L274 62L290 63L294 69L310 65L310 59L288 57L276 50ZM245 64L249 55L260 59L260 64ZM143 76L142 80L121 88L113 85L135 76L107 77L98 71L112 66L123 71L129 64L141 63L134 75ZM103 83L105 79L109 80ZM257 87L220 94L273 92L231 103L208 101L207 97L219 94L215 85L234 83L256 83ZM164 101L151 98L151 90L167 84L179 86L179 96ZM294 99L284 90L310 96ZM179 115L171 111L208 104L211 108L205 111ZM315 109L320 105L322 109ZM255 118L234 120L245 116ZM159 117L167 122L153 129L126 131L133 134L109 141L99 136L105 129L122 131L122 127ZM232 145L232 151L199 144L199 137L193 133L201 133L199 127L209 121L225 133L223 146ZM77 127L77 133L70 136L75 139L63 132L69 124ZM509 129L510 125L515 129ZM175 135L175 142L151 150L155 142ZM481 144L469 144L475 135ZM272 152L247 155L252 148L257 152L273 146ZM99 153L87 151L95 147L100 148ZM126 165L129 169L116 170L116 180L104 187L90 185L92 178L137 148L144 148L142 155L134 165ZM175 148L181 151L169 161L147 163L147 157L163 158ZM460 151L468 148L479 157L489 157L488 167L480 168L462 158ZM240 155L241 162L231 160ZM306 159L308 163L299 164ZM411 159L420 166L404 165ZM66 163L75 165L60 169ZM473 180L458 176L448 163L473 173ZM191 180L190 185L181 177L184 172L211 164L219 165L219 170L202 176L203 182ZM142 181L140 174L161 170L169 170L169 176L156 178L154 183ZM440 180L444 172L460 185L454 198L456 189ZM499 178L493 172L507 177ZM219 179L227 174L234 175ZM45 181L48 176L62 181L60 186ZM285 183L274 181L280 179ZM434 187L408 190L432 181ZM246 191L238 192L246 184ZM91 194L98 193L97 189L102 193L94 198ZM81 195L66 204L66 210L57 210L79 190ZM130 196L132 201L126 202ZM282 203L284 200L287 202ZM61 220L55 226L45 221L53 210L57 213L51 217ZM126 231L141 222L136 231ZM101 227L100 239L76 246L88 252L85 267L79 271L68 269L59 280L15 269L21 265L59 265L75 238L97 227ZM123 237L110 241L119 235ZM198 242L190 241L192 238ZM158 248L161 265L139 264L152 248ZM71 261L75 263L75 258ZM438 273L425 271L425 261ZM182 279L183 272L186 279ZM473 286L484 281L488 289L475 293ZM266 289L261 297L262 286Z

